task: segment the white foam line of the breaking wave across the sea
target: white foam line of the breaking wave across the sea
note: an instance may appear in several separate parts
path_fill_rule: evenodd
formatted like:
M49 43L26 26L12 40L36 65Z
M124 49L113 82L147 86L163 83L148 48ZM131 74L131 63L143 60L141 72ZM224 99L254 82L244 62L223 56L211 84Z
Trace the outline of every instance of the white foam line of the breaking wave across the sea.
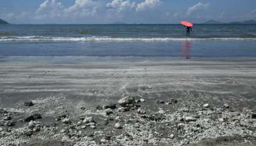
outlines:
M0 41L197 41L197 40L256 40L256 38L112 38L108 36L53 37L53 36L1 36Z

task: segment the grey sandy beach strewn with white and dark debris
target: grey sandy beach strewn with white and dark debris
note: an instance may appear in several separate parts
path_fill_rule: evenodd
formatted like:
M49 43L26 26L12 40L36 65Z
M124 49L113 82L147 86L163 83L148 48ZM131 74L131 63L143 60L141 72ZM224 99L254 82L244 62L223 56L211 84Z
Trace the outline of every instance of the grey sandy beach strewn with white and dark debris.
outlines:
M0 145L255 145L255 57L1 61L0 74Z

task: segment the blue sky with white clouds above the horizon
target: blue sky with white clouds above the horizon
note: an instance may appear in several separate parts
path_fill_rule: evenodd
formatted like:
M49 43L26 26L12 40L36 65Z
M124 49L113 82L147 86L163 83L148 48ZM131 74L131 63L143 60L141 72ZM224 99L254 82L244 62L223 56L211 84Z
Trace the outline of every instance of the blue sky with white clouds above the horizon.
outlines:
M255 0L0 0L13 24L203 23L256 20Z

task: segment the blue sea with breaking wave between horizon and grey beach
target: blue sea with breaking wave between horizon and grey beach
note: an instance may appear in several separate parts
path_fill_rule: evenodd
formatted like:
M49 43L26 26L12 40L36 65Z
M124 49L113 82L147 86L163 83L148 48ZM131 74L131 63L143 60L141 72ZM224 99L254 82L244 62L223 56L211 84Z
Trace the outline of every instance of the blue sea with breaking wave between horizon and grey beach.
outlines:
M0 25L0 61L218 57L256 57L256 24Z

